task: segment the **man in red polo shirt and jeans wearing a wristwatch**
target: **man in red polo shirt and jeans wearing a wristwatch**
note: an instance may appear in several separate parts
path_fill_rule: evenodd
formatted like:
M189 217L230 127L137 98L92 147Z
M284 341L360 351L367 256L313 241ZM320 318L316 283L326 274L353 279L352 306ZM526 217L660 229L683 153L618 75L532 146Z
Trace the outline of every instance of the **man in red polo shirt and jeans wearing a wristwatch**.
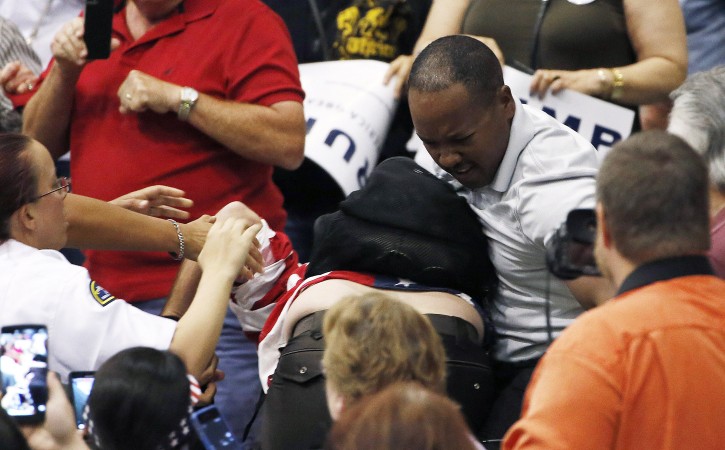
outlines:
M297 62L276 15L257 0L120 2L105 60L86 59L83 32L79 18L56 35L55 60L24 117L24 132L54 157L70 148L77 193L111 200L170 185L194 200L192 218L241 200L283 228L272 167L301 164L305 124ZM87 258L99 283L147 311L160 310L178 269L166 254L92 251ZM223 333L218 349L232 378L242 367L229 365L225 349L239 356L242 343L224 342L243 339L236 331ZM233 410L225 398L254 379L256 362L246 365L250 376L227 380L218 397L228 418L238 419L236 431L256 394L231 401Z

